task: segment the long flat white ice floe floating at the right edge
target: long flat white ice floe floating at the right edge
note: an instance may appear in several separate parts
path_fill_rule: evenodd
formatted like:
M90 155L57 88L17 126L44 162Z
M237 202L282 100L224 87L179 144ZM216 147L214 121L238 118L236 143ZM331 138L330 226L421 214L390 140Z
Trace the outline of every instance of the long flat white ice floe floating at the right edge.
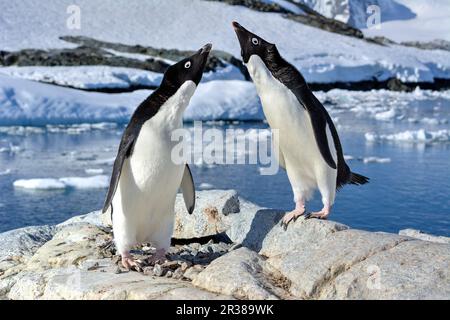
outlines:
M446 142L450 140L450 130L426 131L403 131L393 134L376 134L368 132L365 134L367 141L397 141L397 142Z

